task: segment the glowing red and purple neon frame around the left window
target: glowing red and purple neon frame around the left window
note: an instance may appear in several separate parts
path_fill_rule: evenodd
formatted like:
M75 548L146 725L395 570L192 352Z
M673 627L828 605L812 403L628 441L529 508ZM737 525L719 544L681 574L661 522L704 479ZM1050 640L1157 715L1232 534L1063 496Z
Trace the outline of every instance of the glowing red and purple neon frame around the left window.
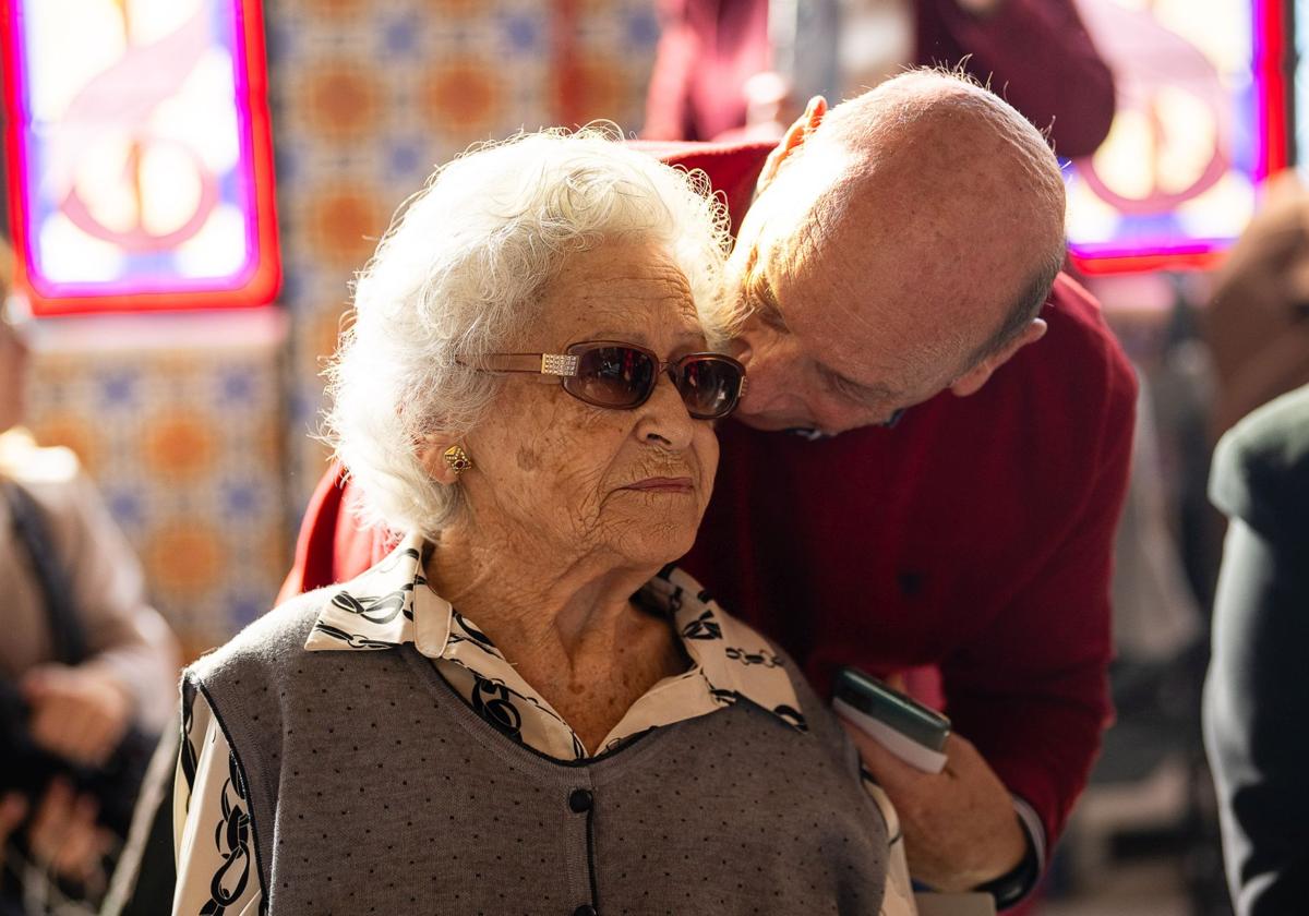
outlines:
M268 119L268 75L263 43L263 13L259 0L230 0L233 12L237 98L237 126L241 147L249 164L246 177L254 188L254 232L247 230L253 255L247 260L241 285L230 280L207 277L194 283L175 283L168 288L131 292L93 292L111 284L82 284L85 294L47 294L42 279L31 264L27 198L29 162L25 131L30 123L27 110L27 67L22 59L20 22L16 0L0 0L0 65L5 93L5 154L9 196L9 226L14 246L14 285L24 291L35 315L67 315L111 311L174 311L194 309L257 308L272 302L281 285L281 260L278 249L278 211L272 170L272 131ZM253 234L253 238L250 237ZM122 285L122 284L120 284ZM75 284L60 284L73 288Z

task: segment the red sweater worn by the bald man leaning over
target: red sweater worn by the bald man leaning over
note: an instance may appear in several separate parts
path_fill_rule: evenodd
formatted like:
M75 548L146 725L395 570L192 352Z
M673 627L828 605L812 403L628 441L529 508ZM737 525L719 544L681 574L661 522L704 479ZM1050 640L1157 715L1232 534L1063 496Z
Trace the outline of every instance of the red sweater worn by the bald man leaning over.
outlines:
M742 213L767 145L665 147ZM1055 284L1046 336L971 398L894 429L806 442L719 428L713 500L685 565L826 692L853 663L940 667L946 712L1054 841L1109 721L1109 581L1136 382L1090 296ZM336 470L301 527L287 594L387 550L342 513Z

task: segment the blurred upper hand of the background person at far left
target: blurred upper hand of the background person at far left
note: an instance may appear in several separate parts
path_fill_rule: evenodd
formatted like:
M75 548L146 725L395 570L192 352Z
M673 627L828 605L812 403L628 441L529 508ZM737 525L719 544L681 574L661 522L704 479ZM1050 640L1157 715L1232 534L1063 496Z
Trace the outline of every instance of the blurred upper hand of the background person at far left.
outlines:
M126 686L94 666L43 665L22 679L31 704L31 738L51 754L85 767L109 759L132 714Z

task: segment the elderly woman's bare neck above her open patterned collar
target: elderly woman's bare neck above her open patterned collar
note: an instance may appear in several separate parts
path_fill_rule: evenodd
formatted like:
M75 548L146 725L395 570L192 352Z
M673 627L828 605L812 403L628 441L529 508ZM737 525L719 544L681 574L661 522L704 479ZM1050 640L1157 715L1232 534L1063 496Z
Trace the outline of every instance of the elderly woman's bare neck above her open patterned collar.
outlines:
M484 632L594 749L640 696L686 670L668 620L632 603L657 572L487 531L442 533L429 588Z

